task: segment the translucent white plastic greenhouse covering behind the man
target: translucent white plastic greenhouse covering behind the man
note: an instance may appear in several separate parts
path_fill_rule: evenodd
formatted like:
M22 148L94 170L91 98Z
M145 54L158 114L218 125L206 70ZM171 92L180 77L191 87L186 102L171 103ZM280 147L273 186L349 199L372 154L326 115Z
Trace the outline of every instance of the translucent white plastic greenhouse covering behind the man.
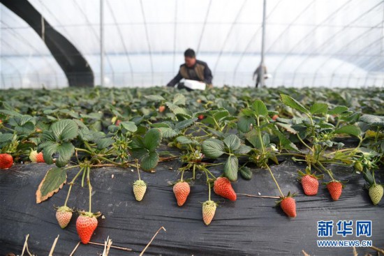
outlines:
M100 1L29 0L81 52L100 84ZM384 1L267 0L267 86L384 86ZM27 22L1 6L1 89L68 86ZM250 86L263 1L105 0L105 86L163 85L186 48L215 85Z

